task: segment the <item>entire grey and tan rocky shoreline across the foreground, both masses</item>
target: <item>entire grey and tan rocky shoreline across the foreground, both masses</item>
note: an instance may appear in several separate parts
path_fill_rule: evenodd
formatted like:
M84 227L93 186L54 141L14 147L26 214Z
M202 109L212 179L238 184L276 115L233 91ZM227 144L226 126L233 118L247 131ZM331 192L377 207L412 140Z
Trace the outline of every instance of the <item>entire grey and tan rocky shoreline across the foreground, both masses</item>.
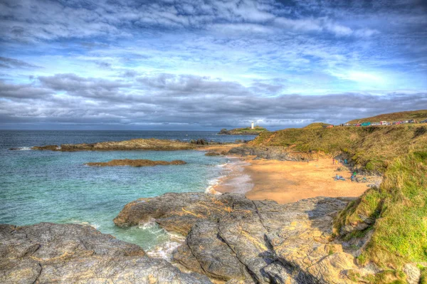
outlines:
M351 283L369 268L334 239L332 221L349 198L292 204L241 194L169 193L137 199L117 226L154 220L186 236L172 263L90 226L1 225L0 282L16 283Z

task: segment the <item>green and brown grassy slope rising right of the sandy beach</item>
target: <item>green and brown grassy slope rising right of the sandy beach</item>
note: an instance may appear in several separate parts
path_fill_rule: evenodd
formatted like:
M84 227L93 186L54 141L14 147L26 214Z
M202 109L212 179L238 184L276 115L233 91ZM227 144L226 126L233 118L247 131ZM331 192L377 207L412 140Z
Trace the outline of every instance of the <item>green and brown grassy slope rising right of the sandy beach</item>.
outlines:
M335 229L357 224L360 216L378 218L369 228L374 233L360 263L374 261L396 269L427 262L426 125L288 129L261 133L251 145L322 151L331 157L344 152L356 167L384 174L380 189L370 189L349 204Z

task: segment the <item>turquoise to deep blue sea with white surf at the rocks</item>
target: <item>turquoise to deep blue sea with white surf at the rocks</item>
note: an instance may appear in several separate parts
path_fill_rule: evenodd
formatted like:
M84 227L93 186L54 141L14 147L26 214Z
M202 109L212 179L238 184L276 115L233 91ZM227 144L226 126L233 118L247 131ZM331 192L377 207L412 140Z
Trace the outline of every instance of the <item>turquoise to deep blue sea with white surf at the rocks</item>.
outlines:
M79 223L136 243L154 257L167 258L182 241L157 223L118 228L112 219L125 204L167 192L204 192L227 174L228 157L204 152L109 151L51 152L31 150L46 144L75 144L157 138L216 142L252 140L250 135L207 131L0 130L0 223ZM19 148L11 150L9 148ZM184 160L156 167L88 167L111 159Z

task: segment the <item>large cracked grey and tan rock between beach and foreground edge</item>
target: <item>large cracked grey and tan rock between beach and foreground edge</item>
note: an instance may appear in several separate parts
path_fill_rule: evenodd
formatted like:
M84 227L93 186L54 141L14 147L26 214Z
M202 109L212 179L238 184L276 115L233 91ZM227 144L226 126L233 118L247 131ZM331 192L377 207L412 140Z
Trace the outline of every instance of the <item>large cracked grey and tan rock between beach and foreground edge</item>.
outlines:
M349 283L353 256L332 238L332 218L350 199L317 197L294 204L240 194L164 194L127 204L114 222L154 219L186 236L173 259L228 283Z

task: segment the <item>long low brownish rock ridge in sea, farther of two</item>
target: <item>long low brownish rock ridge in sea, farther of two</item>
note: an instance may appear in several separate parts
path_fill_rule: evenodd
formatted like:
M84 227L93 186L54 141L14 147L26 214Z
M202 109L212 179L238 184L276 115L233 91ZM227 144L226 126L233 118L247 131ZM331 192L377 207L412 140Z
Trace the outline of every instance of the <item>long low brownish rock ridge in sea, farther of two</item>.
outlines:
M32 147L34 150L74 151L115 151L115 150L186 150L195 149L196 145L174 140L134 139L126 141L98 142L92 144L61 144Z

